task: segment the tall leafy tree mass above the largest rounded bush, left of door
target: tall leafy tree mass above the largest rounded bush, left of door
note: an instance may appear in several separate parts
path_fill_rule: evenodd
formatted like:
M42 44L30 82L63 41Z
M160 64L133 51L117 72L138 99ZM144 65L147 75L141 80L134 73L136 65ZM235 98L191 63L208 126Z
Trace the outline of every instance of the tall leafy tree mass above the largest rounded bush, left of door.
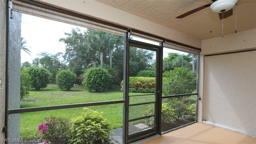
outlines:
M101 67L103 63L110 63L112 51L123 45L123 37L92 29L81 32L76 28L65 35L66 38L60 41L66 44L64 59L69 63L73 72L92 66L96 67L99 63Z

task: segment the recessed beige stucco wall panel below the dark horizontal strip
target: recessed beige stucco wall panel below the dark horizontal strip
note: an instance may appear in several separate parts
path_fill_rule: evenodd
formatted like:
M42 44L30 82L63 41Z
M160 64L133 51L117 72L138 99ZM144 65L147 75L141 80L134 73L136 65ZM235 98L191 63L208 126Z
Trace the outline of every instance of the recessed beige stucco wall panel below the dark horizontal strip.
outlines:
M203 119L256 136L256 51L205 57Z

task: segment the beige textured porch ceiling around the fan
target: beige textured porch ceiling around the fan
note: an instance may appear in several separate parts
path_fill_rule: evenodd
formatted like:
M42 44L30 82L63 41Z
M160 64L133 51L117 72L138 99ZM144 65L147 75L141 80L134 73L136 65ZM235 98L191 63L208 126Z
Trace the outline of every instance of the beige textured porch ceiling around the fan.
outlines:
M212 3L211 0L97 0L103 4L148 19L165 27L198 39L209 39L222 34L222 20L210 7L182 19L177 16ZM224 19L224 35L234 33L236 6L233 15ZM256 0L238 0L237 31L256 28Z

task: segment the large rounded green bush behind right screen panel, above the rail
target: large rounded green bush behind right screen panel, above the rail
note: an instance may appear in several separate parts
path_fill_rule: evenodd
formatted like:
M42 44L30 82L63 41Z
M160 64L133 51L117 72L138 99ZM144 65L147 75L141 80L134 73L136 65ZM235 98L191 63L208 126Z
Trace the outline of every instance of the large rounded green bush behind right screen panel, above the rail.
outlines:
M163 95L192 93L196 90L196 76L186 68L177 67L163 75L166 77L163 78Z

